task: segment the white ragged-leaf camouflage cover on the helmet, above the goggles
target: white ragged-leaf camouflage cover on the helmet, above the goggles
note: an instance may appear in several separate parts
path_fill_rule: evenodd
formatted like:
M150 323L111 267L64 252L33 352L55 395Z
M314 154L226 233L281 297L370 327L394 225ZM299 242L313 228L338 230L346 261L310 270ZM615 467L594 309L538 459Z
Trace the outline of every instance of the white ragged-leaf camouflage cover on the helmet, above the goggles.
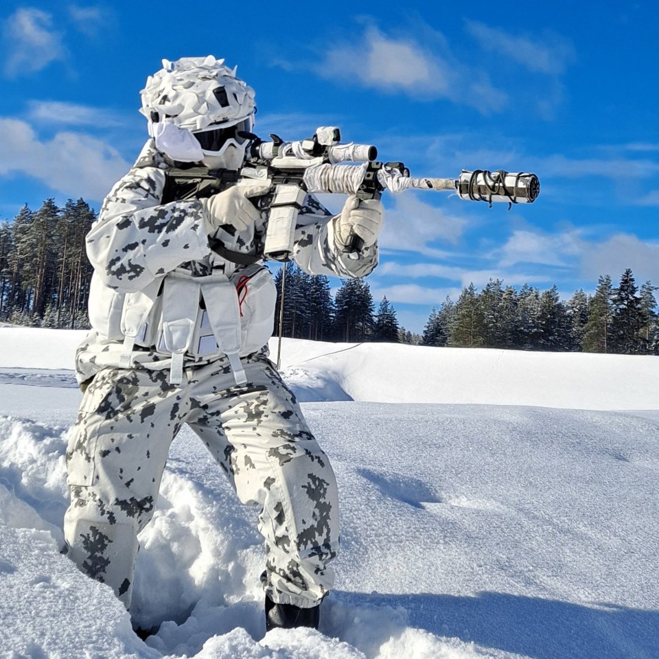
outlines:
M236 78L235 71L212 55L163 60L163 68L148 77L140 92L140 112L150 129L156 123L191 131L237 124L253 115L256 105L254 90Z

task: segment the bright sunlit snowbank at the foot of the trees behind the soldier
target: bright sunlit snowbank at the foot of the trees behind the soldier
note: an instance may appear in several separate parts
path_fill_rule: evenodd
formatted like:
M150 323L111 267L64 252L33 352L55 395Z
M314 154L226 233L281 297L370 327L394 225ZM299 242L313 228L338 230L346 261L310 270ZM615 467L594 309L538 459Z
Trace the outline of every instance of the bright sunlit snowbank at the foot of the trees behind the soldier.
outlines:
M84 332L0 327L0 368L62 377ZM270 356L277 359L277 339ZM285 338L281 369L299 400L529 405L581 410L659 408L654 356L323 343ZM1 374L0 374L1 378ZM71 374L65 374L75 386ZM0 380L1 381L1 380ZM65 385L66 386L66 385Z

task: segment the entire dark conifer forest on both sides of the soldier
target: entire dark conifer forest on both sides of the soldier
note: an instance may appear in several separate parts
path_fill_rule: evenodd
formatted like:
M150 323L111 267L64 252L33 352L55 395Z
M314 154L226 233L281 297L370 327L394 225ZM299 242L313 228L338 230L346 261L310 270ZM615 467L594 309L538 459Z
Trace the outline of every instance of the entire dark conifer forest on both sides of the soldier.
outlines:
M30 327L89 327L87 301L92 268L84 236L95 212L82 199L58 207L53 199L0 222L0 320ZM336 280L335 280L336 281ZM365 279L308 275L294 264L275 271L277 312L273 333L310 340L389 341L429 346L659 354L654 292L636 284L631 268L617 285L599 277L592 294L569 300L556 286L519 290L500 279L478 290L470 284L458 299L438 301L422 334L402 327L391 302L373 300ZM284 288L284 313L281 290Z

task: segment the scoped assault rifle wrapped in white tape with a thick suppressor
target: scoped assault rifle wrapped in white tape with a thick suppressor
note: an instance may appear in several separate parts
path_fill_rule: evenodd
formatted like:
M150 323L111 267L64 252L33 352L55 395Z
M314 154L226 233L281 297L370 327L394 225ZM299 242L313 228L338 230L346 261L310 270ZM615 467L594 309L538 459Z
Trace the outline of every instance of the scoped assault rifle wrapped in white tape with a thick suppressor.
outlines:
M263 181L270 184L270 216L264 241L264 257L287 261L293 248L297 216L307 192L355 194L360 199L379 199L384 190L398 193L416 188L448 190L461 199L533 203L540 194L535 174L511 174L503 170L463 170L458 178L413 178L403 163L376 161L378 150L366 144L340 143L340 131L321 126L310 139L285 142L277 135L251 140L246 161L238 172L207 167L172 167L167 171L165 197L169 200L204 198L230 185ZM345 164L359 163L359 164ZM355 257L362 240L353 235L344 252Z

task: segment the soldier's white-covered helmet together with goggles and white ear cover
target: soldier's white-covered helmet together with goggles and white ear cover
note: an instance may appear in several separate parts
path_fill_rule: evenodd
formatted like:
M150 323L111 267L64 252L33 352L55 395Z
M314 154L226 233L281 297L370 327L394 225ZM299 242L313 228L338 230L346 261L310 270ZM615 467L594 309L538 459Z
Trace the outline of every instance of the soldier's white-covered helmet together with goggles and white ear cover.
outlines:
M140 112L159 150L183 162L211 157L212 166L240 167L248 141L240 132L253 128L255 94L223 59L163 60L140 95ZM222 162L227 157L218 161L223 154L230 156L228 163Z

